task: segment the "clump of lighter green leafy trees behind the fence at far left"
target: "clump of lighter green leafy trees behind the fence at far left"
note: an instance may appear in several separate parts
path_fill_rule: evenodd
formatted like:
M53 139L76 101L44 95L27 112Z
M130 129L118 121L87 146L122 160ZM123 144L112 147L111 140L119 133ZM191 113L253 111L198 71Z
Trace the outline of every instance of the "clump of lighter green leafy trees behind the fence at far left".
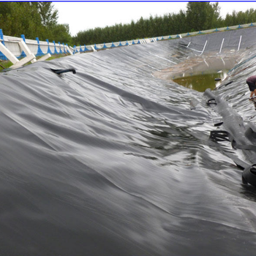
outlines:
M57 20L58 10L50 1L0 1L0 29L8 36L72 44L69 25Z

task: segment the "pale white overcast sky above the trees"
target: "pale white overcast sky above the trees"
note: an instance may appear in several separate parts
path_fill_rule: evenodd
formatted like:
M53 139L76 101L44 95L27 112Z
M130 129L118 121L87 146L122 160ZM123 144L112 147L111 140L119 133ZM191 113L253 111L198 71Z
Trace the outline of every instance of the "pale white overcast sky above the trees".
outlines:
M186 1L56 1L53 2L59 11L59 23L69 24L72 36L79 31L104 28L116 23L131 23L150 15L165 15L187 10ZM219 1L220 15L225 18L233 10L246 11L256 9L256 1Z

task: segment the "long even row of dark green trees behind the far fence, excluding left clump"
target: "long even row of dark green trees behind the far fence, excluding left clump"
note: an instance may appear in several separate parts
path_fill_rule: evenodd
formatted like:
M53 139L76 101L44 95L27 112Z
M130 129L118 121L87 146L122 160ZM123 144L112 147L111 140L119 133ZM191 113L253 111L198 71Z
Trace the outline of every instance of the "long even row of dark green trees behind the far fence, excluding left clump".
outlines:
M230 3L232 4L232 3ZM232 5L231 7L232 8ZM192 31L235 26L256 21L256 10L246 12L233 11L225 18L220 17L219 3L208 1L190 1L187 10L167 13L163 16L140 18L129 24L116 24L105 28L80 31L73 37L75 45L92 45L103 42L119 42L146 37L160 37L171 34L183 34Z

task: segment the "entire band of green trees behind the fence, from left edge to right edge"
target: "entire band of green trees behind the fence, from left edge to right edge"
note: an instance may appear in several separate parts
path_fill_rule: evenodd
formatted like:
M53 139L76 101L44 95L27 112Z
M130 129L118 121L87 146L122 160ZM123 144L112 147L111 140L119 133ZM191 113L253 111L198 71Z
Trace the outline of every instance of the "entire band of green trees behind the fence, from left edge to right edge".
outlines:
M231 3L230 3L231 4ZM232 6L230 7L232 8ZM256 21L256 10L233 11L225 18L220 17L218 2L190 1L187 10L166 13L132 20L129 24L116 24L104 28L80 31L75 37L69 32L68 24L59 24L58 10L50 1L0 1L0 29L4 34L28 39L64 42L69 45L92 45L94 43L118 42L146 37L183 34L192 31L215 29L225 26Z

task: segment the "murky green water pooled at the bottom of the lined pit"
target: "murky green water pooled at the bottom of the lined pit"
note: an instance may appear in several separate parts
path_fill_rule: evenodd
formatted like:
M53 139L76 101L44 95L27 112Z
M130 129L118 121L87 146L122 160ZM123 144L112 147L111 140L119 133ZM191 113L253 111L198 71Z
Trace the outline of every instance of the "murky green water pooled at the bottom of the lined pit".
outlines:
M178 83L181 86L187 87L189 89L193 89L196 91L205 91L210 88L214 90L216 87L220 85L222 80L227 77L228 70L212 72L212 73L200 73L197 75L191 76L182 76L181 78L176 78L173 81Z

